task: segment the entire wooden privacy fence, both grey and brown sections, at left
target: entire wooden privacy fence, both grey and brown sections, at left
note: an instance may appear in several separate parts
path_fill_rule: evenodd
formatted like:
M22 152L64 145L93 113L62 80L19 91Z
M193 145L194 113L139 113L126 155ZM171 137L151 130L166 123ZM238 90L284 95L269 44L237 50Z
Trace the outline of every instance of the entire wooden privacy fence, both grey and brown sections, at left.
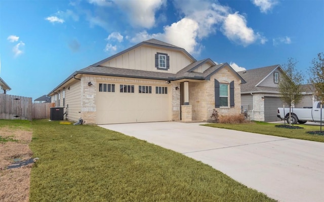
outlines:
M0 94L0 119L49 119L54 103L32 103L31 97Z

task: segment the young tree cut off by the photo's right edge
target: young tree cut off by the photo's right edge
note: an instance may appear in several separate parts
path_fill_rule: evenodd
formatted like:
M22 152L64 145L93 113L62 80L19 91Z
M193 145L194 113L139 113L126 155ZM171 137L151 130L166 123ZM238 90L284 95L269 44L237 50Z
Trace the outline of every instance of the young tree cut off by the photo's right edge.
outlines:
M309 81L315 87L317 100L324 101L324 54L317 54L317 58L312 60L312 67L309 67Z

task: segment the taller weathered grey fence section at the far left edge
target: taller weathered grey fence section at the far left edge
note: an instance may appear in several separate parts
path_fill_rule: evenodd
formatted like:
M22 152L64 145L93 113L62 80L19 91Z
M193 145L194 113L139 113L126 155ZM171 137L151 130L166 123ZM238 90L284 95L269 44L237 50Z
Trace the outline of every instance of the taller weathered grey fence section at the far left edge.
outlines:
M0 119L32 120L32 99L0 94Z

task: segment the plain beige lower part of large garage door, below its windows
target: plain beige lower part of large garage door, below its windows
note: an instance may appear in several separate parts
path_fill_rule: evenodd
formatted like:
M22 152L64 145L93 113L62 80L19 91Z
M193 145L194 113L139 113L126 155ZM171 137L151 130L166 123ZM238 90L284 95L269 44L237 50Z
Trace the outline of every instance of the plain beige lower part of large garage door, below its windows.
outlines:
M152 86L155 89L155 86ZM170 95L97 92L97 124L134 123L170 120Z

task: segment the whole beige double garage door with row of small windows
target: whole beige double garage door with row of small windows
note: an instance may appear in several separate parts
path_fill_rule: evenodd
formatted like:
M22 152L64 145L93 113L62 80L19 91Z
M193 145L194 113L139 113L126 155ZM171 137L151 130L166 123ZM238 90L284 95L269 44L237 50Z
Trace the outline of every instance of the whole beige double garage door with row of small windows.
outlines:
M97 124L170 121L170 93L167 86L99 83Z

